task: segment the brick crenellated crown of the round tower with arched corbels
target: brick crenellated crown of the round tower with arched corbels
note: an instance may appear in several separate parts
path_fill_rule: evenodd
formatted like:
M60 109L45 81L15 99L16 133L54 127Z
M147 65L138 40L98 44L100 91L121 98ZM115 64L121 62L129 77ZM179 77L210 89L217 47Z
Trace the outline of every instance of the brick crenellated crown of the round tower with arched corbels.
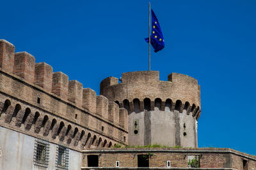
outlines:
M122 82L108 77L100 83L100 94L129 112L143 110L185 110L200 117L200 85L195 78L172 73L168 81L159 80L159 71L134 71L122 74Z

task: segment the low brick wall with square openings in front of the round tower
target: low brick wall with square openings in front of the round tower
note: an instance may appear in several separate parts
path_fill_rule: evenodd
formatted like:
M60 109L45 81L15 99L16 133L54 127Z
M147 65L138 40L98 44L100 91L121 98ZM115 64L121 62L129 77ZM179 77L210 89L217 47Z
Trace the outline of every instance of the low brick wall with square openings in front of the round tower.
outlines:
M248 168L255 169L256 157L237 152L228 148L111 148L102 150L88 150L83 152L83 164L87 166L87 155L99 155L100 167L138 167L138 155L149 156L149 167L167 166L170 160L171 167L188 168L188 157L200 158L200 169L227 168L243 169L243 159L248 160Z

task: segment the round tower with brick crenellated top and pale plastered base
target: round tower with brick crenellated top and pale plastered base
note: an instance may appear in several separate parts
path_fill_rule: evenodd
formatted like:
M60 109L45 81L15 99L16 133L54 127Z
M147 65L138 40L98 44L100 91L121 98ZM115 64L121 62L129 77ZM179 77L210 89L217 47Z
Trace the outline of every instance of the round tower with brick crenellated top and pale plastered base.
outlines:
M197 147L197 120L201 113L200 85L195 78L172 73L159 81L159 71L108 77L100 94L128 110L129 145Z

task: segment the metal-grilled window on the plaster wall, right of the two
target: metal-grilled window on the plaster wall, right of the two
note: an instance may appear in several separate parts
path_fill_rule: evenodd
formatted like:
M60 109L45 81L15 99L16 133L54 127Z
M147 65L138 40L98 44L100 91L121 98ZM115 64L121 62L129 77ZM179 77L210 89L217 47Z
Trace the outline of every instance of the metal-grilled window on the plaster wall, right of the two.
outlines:
M57 169L68 169L68 153L69 150L66 146L57 146L56 151L56 167Z

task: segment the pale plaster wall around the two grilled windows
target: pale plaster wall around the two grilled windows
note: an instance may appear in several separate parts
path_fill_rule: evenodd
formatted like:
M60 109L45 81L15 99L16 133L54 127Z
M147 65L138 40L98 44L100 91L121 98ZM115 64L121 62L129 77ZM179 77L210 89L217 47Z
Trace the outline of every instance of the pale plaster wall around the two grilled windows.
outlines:
M33 165L35 138L0 127L0 169L38 169ZM56 169L56 147L49 143L47 170ZM68 169L81 169L82 153L69 150Z

